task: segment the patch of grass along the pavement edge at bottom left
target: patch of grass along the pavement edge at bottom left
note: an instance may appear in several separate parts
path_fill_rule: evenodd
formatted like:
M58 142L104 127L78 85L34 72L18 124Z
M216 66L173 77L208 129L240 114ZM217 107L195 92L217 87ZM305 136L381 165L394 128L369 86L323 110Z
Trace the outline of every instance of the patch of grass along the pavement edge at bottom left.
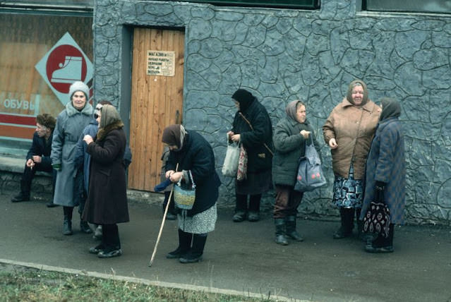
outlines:
M0 297L1 301L268 301L18 266L0 270Z

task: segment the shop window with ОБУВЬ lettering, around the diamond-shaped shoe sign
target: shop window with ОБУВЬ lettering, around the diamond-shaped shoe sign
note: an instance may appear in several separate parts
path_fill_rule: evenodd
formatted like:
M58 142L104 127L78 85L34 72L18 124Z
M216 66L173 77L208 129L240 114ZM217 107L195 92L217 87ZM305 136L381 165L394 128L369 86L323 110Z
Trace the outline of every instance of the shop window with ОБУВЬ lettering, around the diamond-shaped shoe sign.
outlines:
M92 62L91 14L0 11L0 139L28 141L37 114L57 116L64 109L65 99L55 95L35 66L66 33ZM61 69L65 64L63 59Z

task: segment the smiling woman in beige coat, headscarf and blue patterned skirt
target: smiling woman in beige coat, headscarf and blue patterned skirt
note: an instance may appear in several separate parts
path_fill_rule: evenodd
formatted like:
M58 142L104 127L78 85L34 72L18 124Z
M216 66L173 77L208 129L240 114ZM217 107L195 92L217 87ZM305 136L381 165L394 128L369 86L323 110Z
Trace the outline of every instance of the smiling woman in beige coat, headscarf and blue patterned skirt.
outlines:
M332 154L335 174L332 202L339 208L341 227L333 238L352 235L354 212L360 216L366 157L378 124L380 108L368 99L362 80L354 80L347 95L330 113L323 126L325 143ZM357 220L359 237L362 224Z

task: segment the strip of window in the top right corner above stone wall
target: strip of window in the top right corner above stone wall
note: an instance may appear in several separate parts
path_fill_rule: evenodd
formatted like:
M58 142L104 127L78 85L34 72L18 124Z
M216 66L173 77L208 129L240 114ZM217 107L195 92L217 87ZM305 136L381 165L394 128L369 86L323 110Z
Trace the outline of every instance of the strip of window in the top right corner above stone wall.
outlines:
M363 0L363 11L451 13L451 0Z

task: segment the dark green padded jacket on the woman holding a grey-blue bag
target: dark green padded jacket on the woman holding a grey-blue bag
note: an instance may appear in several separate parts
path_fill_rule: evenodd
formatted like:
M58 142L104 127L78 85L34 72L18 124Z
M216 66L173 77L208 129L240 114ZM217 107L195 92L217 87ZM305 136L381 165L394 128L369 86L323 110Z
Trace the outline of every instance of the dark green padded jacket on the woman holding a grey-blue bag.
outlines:
M293 119L284 118L277 123L274 131L275 155L272 159L272 181L275 185L294 186L298 173L299 159L306 153L306 141L300 134L302 130L311 131L313 145L320 153L318 141L308 121L299 123Z

